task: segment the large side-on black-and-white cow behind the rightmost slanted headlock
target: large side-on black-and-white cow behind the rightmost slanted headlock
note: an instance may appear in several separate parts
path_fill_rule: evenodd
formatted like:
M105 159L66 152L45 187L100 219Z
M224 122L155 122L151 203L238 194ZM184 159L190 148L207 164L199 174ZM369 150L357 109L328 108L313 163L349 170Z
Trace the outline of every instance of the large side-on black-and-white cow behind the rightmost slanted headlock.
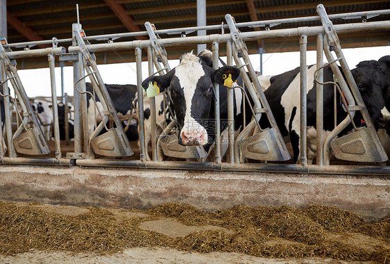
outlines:
M316 156L316 82L314 72L316 65L307 67L307 159L311 163ZM379 63L375 60L364 61L351 70L359 92L362 94L368 113L371 115L375 128L378 129L382 121L384 111L384 93L387 83L384 74L380 70ZM333 81L333 72L330 67L324 68L324 81ZM264 79L264 77L259 77ZM268 78L268 77L267 77ZM299 67L289 72L272 76L268 88L263 87L264 94L269 102L272 113L278 124L282 136L289 135L294 151L294 162L298 160L300 152L300 72ZM323 128L324 139L334 129L334 90L332 84L323 87ZM337 100L341 101L339 94ZM346 117L342 104L337 104L337 124ZM360 125L359 112L354 117L355 124ZM268 120L262 117L262 125L266 126ZM350 127L346 128L346 131Z

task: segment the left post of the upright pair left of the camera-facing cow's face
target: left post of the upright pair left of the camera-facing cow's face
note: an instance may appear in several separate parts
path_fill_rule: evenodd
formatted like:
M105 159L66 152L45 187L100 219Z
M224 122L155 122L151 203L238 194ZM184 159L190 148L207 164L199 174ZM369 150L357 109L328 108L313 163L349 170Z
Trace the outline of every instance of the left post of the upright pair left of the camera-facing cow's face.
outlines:
M138 88L138 125L139 125L139 160L144 162L145 158L145 137L144 137L144 94L142 89L142 49L135 48L135 63L137 66L137 88Z

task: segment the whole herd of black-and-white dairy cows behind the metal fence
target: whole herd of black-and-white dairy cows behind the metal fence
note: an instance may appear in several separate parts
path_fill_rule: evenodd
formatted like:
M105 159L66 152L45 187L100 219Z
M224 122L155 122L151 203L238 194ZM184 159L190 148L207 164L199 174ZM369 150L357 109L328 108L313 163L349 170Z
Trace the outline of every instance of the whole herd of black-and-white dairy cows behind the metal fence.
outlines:
M178 142L185 146L203 146L206 151L210 149L216 138L214 99L216 96L214 83L219 83L219 113L221 117L221 128L226 128L228 120L228 88L225 87L226 80L237 81L241 85L242 79L237 67L221 65L219 69L212 67L211 51L202 51L198 56L185 53L180 59L180 64L171 69L165 75L150 76L142 82L146 89L158 89L155 92L156 101L156 123L158 131L172 120L178 126ZM314 71L316 65L307 67L307 158L312 160L316 155L316 81ZM390 56L384 56L380 60L367 60L359 63L351 70L353 78L362 95L364 104L371 115L371 119L378 131L384 149L390 154ZM278 124L283 137L289 138L293 149L293 162L296 163L300 151L300 71L299 67L275 76L257 76L262 84L262 90L269 103L275 121ZM333 81L334 75L330 67L323 71L324 82ZM137 129L137 86L136 85L105 85L108 94L117 110L126 130L129 141L138 140L139 130ZM229 85L230 86L230 85ZM235 131L241 131L251 121L253 102L243 104L243 91L239 88L233 89L234 101L234 122ZM244 89L246 90L246 88ZM94 131L96 122L101 121L99 113L103 112L99 98L93 100L90 94L94 94L91 83L87 83L87 115L90 133ZM149 91L150 92L150 91ZM337 124L346 118L346 111L343 109L339 93L334 94L332 84L323 86L323 132L325 136L334 129L334 116L337 117ZM337 102L334 107L334 98ZM3 117L3 100L0 98L1 120ZM94 102L96 101L96 103ZM144 131L146 142L146 157L149 159L147 145L151 140L151 110L149 98L144 92ZM31 101L33 110L42 125L42 131L46 140L53 136L53 111L51 102L35 99ZM70 112L72 106L65 106L58 102L58 113L60 123L60 138L65 139L65 107ZM244 109L245 108L245 109ZM335 115L334 110L337 110ZM244 117L244 113L246 116ZM69 135L73 135L73 121L69 116ZM362 116L357 111L354 122L361 124ZM262 128L269 127L269 120L262 115L260 119ZM348 133L352 127L347 126L341 135ZM103 131L104 132L104 131Z

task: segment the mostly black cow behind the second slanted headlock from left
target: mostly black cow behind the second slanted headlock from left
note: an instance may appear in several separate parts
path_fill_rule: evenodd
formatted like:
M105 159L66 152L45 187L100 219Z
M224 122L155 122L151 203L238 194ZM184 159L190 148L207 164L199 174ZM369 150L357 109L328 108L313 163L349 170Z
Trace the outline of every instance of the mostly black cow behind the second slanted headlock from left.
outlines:
M121 120L122 126L126 127L127 122L131 119L132 113L132 102L135 99L137 94L137 86L132 84L119 85L119 84L105 84L108 94L114 104L115 110L117 110L117 115L119 120ZM101 115L103 115L103 106L100 102L99 97L94 93L92 83L86 83L86 90L91 94L95 94L94 98L96 100L96 106L94 104L94 99L90 93L87 93L87 113L88 113L88 128L90 129L90 135L94 131L95 123L101 122ZM97 109L96 109L96 108ZM105 129L101 133L104 133ZM129 141L137 140L137 124L131 122L126 131L126 135Z

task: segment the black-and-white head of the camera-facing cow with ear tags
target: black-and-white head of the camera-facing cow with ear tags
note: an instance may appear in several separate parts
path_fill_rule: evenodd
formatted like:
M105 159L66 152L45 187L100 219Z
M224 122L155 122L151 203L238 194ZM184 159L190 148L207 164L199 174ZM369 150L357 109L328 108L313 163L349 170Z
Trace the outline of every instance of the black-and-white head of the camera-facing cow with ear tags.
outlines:
M213 69L206 64L205 60L193 53L185 53L176 68L164 76L151 76L142 82L143 88L156 83L160 92L166 90L171 97L180 126L178 141L182 145L211 143L204 122L214 118L214 113L210 111L215 96L214 82L223 84L228 76L233 81L239 76L236 67Z

